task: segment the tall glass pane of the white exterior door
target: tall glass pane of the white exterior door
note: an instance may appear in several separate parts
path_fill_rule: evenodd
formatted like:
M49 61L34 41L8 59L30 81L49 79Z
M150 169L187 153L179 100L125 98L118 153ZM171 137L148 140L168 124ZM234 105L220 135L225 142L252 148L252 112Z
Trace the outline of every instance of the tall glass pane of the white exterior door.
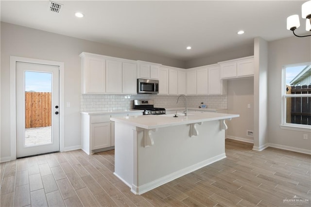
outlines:
M25 71L24 146L52 143L52 73Z

